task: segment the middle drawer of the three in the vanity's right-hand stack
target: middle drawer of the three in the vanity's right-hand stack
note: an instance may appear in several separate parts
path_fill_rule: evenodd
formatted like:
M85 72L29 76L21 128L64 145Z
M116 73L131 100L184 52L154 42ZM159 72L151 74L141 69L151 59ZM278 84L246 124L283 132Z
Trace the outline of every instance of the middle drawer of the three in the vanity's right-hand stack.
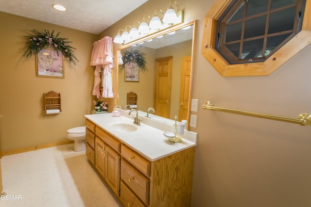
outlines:
M124 159L121 159L121 180L148 205L149 179Z

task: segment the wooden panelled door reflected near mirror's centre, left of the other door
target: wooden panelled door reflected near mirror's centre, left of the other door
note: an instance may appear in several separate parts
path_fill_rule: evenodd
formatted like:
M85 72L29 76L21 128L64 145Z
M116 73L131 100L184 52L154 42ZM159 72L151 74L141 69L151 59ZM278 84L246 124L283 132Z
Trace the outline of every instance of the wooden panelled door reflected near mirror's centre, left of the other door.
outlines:
M170 118L173 56L155 59L155 114Z

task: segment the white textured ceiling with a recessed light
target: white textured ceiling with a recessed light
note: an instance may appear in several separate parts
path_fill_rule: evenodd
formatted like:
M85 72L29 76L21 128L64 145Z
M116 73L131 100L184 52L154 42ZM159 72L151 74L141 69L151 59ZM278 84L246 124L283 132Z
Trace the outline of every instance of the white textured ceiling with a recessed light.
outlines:
M99 34L147 0L0 0L0 11ZM57 11L52 4L65 6Z

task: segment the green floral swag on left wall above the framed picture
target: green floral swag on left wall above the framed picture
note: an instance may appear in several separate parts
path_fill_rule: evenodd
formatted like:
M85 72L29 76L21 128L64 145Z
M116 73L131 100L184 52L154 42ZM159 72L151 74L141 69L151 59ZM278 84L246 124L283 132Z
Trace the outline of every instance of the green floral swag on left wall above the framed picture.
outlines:
M25 36L29 39L29 41L26 42L28 48L24 53L24 57L28 58L33 54L38 53L43 48L52 48L55 51L61 51L70 63L75 64L75 61L78 61L76 56L73 54L73 49L76 48L69 46L69 43L72 42L68 41L68 38L58 37L60 32L58 32L56 35L54 34L54 30L52 33L50 33L48 30L44 30L44 32L32 30L31 32L34 34Z

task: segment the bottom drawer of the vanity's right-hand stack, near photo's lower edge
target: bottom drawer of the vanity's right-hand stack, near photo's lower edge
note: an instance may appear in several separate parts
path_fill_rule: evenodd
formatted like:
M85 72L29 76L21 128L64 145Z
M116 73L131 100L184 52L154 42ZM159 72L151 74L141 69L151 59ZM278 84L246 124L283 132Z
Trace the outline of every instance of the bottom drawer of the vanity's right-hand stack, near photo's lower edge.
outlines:
M123 181L120 184L120 200L125 207L146 207Z

